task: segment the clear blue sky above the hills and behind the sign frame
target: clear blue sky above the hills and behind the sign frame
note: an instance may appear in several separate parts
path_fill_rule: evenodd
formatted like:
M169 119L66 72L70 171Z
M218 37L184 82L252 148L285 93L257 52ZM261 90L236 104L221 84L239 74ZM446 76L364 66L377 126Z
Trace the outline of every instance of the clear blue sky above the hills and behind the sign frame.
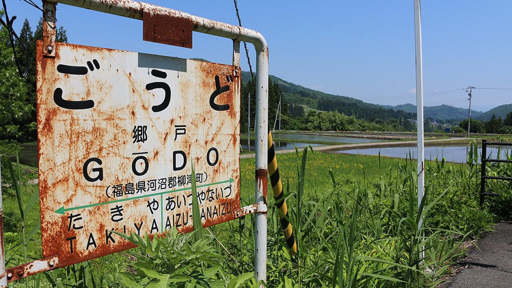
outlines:
M147 1L190 14L238 24L232 1ZM36 2L39 3L39 2ZM35 28L40 12L8 0L19 31L24 18ZM383 105L415 104L412 0L245 1L243 26L269 44L270 73L327 93ZM512 1L422 2L424 104L467 108L463 88L512 88ZM140 20L67 5L57 6L58 25L70 43L229 64L231 41L194 33L194 48L142 41ZM17 23L16 23L17 22ZM252 47L251 60L255 67ZM248 70L245 56L242 69ZM512 90L476 89L472 108L512 103Z

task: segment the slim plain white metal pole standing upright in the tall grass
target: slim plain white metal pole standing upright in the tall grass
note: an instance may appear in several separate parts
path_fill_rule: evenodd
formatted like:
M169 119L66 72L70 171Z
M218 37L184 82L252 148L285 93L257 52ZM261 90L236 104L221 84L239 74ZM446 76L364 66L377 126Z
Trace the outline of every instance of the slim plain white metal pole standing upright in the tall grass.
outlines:
M414 35L416 39L416 107L418 122L418 209L424 195L424 138L423 138L423 60L421 48L421 11L420 0L414 0ZM421 211L418 211L421 213ZM418 229L421 229L423 218L419 219ZM423 258L423 247L420 250L420 259Z

